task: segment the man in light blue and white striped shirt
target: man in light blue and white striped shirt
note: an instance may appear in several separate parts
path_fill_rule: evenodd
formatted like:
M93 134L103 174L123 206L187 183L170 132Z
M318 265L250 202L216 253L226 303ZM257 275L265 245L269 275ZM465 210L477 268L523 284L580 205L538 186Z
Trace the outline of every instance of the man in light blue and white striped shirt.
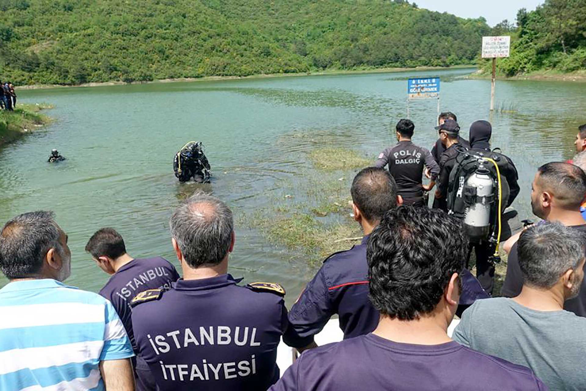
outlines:
M110 301L64 285L67 235L52 212L0 232L0 390L134 390L130 339Z

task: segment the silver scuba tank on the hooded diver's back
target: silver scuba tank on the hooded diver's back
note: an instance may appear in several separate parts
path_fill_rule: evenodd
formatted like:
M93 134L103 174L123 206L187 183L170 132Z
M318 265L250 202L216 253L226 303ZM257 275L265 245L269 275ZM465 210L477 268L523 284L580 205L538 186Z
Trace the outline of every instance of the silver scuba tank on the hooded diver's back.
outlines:
M466 205L464 227L474 242L486 239L490 234L490 212L495 202L493 189L490 171L483 165L468 177L462 188Z

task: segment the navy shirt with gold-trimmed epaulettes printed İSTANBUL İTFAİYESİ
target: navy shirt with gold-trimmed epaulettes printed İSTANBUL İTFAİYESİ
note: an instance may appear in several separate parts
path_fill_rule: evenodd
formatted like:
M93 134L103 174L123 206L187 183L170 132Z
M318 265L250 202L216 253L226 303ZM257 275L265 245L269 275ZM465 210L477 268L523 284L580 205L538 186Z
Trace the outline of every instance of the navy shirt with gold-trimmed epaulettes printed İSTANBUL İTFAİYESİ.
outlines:
M239 281L229 274L180 279L134 305L138 350L159 389L266 390L277 382L284 300Z

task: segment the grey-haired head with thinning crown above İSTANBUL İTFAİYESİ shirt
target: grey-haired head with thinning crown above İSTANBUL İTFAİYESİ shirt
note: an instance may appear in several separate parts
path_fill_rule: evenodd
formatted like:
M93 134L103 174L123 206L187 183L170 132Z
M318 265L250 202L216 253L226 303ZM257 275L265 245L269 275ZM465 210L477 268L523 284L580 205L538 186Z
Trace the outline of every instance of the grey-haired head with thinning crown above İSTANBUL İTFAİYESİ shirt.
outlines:
M232 212L222 201L205 193L197 192L179 205L169 226L190 267L219 264L230 250Z

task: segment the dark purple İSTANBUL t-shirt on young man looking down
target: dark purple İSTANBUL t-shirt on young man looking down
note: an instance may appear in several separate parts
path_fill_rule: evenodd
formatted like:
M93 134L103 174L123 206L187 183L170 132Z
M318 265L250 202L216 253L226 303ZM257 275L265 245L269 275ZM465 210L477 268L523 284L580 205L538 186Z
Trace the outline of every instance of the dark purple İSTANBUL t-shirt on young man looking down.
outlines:
M171 283L179 278L175 266L163 257L133 259L119 268L101 288L100 295L114 305L135 352L137 347L132 333L130 301L142 291L171 288Z

